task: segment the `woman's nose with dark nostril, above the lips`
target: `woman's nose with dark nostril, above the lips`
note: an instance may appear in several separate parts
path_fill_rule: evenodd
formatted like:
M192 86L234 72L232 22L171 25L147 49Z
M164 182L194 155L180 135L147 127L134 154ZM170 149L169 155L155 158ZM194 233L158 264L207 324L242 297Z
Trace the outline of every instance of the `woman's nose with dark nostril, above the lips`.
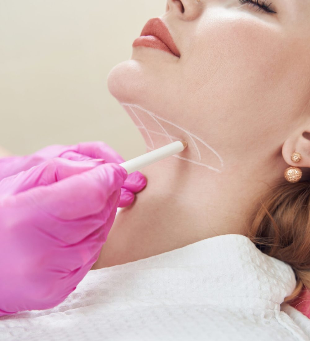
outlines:
M176 12L184 20L194 20L203 11L202 0L167 0L166 12Z

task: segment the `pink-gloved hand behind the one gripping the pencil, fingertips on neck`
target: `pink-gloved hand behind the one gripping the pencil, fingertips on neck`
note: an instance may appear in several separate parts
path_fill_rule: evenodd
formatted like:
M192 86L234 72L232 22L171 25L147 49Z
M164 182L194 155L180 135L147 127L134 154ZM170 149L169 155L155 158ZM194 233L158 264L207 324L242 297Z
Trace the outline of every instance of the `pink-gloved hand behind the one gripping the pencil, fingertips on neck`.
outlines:
M30 155L0 158L0 180L56 157L75 161L103 159L103 162L115 162L118 164L125 161L112 147L102 141L82 142L68 146L51 145ZM125 180L121 188L118 207L126 207L134 201L133 189L135 189L137 183L146 183L145 177L138 171L129 174Z

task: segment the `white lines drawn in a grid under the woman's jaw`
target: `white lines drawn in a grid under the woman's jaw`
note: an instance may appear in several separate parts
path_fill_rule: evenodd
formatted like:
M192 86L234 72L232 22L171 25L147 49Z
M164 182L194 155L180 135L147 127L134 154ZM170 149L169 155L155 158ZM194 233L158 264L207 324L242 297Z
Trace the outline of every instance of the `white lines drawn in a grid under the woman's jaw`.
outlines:
M172 122L170 122L170 121L164 119L163 117L160 117L160 116L158 116L158 115L156 115L156 114L154 114L154 113L152 113L152 112L150 112L150 111L144 109L143 107L141 107L141 106L138 105L138 104L129 104L129 103L120 103L120 104L121 104L122 106L124 106L124 107L125 107L125 106L128 106L128 107L131 109L132 113L135 115L135 117L139 120L139 122L141 122L142 126L137 126L137 127L138 127L138 128L141 128L141 129L144 129L144 130L146 131L146 133L148 134L148 137L149 137L149 139L150 139L150 141L151 141L151 143L152 143L152 147L147 146L148 149L153 150L153 149L155 148L155 147L154 147L154 142L153 142L153 140L152 140L152 138L151 138L151 136L150 136L150 132L151 132L151 133L154 133L154 134L159 134L159 135L166 136L166 137L168 137L168 139L169 139L171 142L174 142L172 138L175 138L175 139L178 140L177 137L171 136L171 135L169 135L169 134L167 133L167 131L164 129L164 127L163 127L163 126L158 122L158 120L157 120L157 119L160 119L160 120L162 120L162 121L164 121L164 122L166 122L166 123L168 123L168 124L173 125L174 127L178 128L178 129L182 130L183 132L185 132L185 133L189 136L189 138L190 138L191 141L193 142L194 148L195 148L195 150L196 150L196 152L197 152L197 154L198 154L199 161L201 161L201 153L200 153L200 150L198 149L197 144L195 143L195 141L194 141L193 138L197 139L197 140L200 141L203 145L205 145L208 149L210 149L210 150L219 158L219 160L220 160L220 162L221 162L221 166L222 166L222 167L224 166L223 159L220 157L220 155L219 155L212 147L210 147L204 140L202 140L200 137L196 136L196 135L193 134L192 132L190 132L190 131L188 131L188 130L186 130L186 129L184 129L184 128L181 128L179 125L177 125L177 124L175 124L175 123L172 123ZM140 110L142 110L143 112L147 113L147 114L148 114L148 115L149 115L149 116L150 116L150 117L159 125L159 127L163 130L164 133L159 133L159 132L155 132L155 131L153 131L153 130L148 130L148 129L145 127L145 125L142 123L142 121L138 118L138 116L137 116L137 114L134 112L133 108L140 109ZM205 163L197 162L197 161L194 161L194 160L191 160L191 159L188 159L188 158L183 158L183 157L180 157L179 155L176 155L176 154L174 154L174 155L172 155L172 156L174 156L174 157L176 157L176 158L178 158L178 159L181 159L181 160L185 160L185 161L188 161L188 162L191 162L191 163L200 165L200 166L207 167L207 168L209 168L209 169L211 169L211 170L214 170L214 171L217 172L217 173L222 173L222 171L221 171L220 169L215 168L215 167L212 167L212 166L207 165L207 164L205 164Z

